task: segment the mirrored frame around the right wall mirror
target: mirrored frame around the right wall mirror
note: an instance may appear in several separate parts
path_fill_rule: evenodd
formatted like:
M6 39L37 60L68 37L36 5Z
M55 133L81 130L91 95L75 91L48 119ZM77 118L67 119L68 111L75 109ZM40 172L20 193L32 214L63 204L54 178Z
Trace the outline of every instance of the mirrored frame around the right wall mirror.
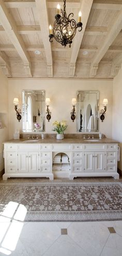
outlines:
M96 119L96 129L94 129L94 131L89 131L88 129L80 129L80 112L81 112L81 108L79 106L79 94L84 95L84 94L95 94L96 95L96 115L97 115L97 119ZM98 127L98 121L99 121L99 95L100 92L99 91L77 91L77 132L85 132L85 133L95 133L98 132L99 127ZM95 124L95 121L94 121Z

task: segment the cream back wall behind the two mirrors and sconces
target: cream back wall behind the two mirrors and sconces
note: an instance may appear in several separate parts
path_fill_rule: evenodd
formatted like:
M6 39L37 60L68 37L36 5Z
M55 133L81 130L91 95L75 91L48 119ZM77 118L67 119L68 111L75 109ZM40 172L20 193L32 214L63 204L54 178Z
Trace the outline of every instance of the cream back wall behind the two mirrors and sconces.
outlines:
M77 80L77 79L8 79L9 93L9 139L13 137L16 129L22 132L22 121L17 120L14 111L13 98L19 97L22 103L23 89L45 89L45 97L51 99L50 111L52 118L45 123L45 132L53 133L52 123L55 120L67 120L68 128L66 133L77 133L77 122L71 121L70 112L72 110L71 99L77 97L78 90L98 90L100 91L99 107L102 106L103 98L108 98L109 105L102 123L99 120L99 131L106 137L112 138L112 80ZM22 105L18 106L22 109Z

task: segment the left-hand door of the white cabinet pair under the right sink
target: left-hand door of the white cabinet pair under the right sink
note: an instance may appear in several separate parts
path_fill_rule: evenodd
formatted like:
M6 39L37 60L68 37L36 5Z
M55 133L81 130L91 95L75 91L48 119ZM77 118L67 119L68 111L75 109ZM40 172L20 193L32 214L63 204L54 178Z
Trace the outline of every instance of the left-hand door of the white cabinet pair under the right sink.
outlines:
M84 153L84 172L94 172L94 153Z

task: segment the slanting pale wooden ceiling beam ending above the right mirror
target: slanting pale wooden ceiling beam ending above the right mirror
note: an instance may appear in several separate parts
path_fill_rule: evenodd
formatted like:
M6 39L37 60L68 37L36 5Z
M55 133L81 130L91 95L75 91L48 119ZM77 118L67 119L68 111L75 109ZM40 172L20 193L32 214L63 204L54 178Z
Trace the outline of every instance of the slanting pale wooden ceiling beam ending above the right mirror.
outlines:
M108 32L107 36L105 37L104 42L102 43L101 47L95 54L93 62L90 66L90 77L93 77L93 70L94 66L98 65L101 59L103 58L104 54L108 51L109 47L111 46L112 42L115 40L119 32L122 28L122 9L118 12L116 20L111 24L111 29Z

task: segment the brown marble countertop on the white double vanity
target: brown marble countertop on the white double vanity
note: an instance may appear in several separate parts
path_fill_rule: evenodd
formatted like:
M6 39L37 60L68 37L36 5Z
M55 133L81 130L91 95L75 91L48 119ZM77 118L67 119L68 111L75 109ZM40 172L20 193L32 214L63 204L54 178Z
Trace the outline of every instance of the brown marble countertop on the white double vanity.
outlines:
M42 144L42 143L49 143L49 144L93 144L93 143L118 143L118 141L112 140L112 139L107 139L107 138L103 138L103 139L99 139L99 138L95 138L95 139L83 139L83 138L64 138L63 140L56 140L56 138L45 138L45 139L12 139L9 141L6 141L4 143L14 143L14 144L18 144L18 143L22 143L22 144Z

